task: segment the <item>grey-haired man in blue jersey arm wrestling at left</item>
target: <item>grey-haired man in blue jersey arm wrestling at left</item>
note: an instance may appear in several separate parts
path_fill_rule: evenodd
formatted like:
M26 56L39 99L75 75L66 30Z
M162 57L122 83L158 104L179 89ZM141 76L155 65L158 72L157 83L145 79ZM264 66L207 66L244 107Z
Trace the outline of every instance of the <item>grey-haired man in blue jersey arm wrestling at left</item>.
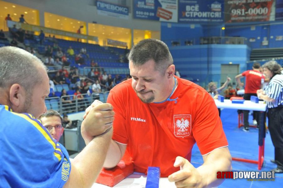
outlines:
M114 120L110 104L95 103L81 131L87 144L74 159L38 118L46 112L45 65L16 47L0 48L0 186L91 187L104 163Z

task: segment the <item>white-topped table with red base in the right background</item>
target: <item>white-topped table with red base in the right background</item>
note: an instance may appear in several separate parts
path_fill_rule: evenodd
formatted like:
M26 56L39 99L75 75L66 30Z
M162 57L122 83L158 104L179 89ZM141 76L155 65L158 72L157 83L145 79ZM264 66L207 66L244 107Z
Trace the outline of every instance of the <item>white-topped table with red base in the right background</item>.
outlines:
M265 138L265 124L264 124L264 112L266 111L266 104L263 101L259 103L254 103L251 101L244 101L243 104L232 103L231 100L225 99L224 102L214 100L218 108L228 108L228 109L238 109L238 110L254 110L259 112L259 158L258 160L242 159L232 157L232 160L242 161L247 163L258 164L258 169L260 170L264 161L264 138Z

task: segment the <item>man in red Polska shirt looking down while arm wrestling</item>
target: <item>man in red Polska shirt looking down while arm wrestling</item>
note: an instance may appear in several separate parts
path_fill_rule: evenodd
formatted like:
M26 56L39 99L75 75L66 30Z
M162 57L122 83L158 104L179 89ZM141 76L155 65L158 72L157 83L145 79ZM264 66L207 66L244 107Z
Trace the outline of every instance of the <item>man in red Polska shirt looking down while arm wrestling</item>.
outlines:
M114 134L104 167L111 169L124 154L136 172L158 166L162 177L178 187L217 186L217 171L231 170L231 155L212 97L193 82L174 76L175 65L165 43L141 40L131 49L132 79L110 90ZM204 164L190 164L197 143Z

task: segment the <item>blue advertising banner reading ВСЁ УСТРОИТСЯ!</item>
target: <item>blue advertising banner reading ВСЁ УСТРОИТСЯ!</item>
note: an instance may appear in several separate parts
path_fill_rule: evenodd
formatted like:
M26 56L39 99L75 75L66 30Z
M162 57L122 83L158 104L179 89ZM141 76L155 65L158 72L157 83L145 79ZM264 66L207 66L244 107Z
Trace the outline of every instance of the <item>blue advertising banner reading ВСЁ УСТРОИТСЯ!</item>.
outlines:
M220 23L224 20L224 0L179 1L180 23Z

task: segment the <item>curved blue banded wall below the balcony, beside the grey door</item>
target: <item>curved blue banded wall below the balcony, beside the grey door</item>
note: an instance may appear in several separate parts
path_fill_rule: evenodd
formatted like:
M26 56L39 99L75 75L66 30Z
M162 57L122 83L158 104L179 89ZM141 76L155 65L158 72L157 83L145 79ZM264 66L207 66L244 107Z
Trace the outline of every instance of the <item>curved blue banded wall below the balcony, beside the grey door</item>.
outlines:
M247 45L207 44L191 46L172 46L169 50L173 56L176 70L189 80L197 80L200 86L208 82L220 83L221 64L240 65L240 72L247 70L250 48Z

